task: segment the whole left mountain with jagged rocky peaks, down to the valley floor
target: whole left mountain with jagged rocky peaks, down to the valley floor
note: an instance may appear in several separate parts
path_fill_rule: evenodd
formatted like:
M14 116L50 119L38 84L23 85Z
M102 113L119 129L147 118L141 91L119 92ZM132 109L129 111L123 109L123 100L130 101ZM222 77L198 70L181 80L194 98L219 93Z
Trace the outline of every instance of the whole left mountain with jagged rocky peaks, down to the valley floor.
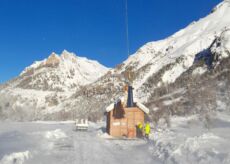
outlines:
M57 106L81 87L93 83L109 68L64 50L36 61L0 88L0 116L43 119L43 113L64 110ZM45 111L45 112L44 112Z

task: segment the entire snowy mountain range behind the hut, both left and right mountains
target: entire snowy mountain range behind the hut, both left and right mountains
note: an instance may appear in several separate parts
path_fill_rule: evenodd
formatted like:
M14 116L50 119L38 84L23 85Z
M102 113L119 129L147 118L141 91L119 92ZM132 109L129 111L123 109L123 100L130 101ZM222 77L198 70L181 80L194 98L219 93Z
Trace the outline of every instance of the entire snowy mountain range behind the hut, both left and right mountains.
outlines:
M199 111L202 108L199 96L208 97L204 102L211 101L214 103L212 106L219 103L218 108L220 105L228 107L228 100L216 95L230 83L226 73L230 68L229 18L230 1L224 0L207 17L164 40L145 44L109 71L68 52L61 56L53 54L26 68L18 78L7 83L1 89L0 102L4 103L0 106L16 111L22 102L23 105L31 103L36 115L40 115L38 118L89 116L98 119L107 104L124 94L123 87L129 74L135 88L134 96L153 112L168 109L169 113L184 114L191 108ZM202 60L194 64L199 56L203 56ZM204 64L209 59L212 69ZM101 74L95 77L98 72ZM24 94L25 89L30 90L31 96ZM72 90L74 93L67 93ZM227 92L226 89L224 94Z

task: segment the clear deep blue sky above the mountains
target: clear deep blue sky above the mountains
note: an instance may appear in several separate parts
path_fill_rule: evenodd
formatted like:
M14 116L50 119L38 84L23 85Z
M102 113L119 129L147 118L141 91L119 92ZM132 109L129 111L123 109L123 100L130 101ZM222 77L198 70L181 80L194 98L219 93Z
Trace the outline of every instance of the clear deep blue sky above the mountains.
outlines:
M128 0L130 52L209 14L221 0ZM0 0L0 83L64 49L114 67L127 56L125 0Z

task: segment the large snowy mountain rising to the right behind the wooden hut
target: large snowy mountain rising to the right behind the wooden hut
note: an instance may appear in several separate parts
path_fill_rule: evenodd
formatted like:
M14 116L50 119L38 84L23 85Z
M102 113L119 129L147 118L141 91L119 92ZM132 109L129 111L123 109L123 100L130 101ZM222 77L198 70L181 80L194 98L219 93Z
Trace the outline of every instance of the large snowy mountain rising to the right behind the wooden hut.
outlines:
M199 89L202 88L202 84L197 83L203 82L204 89L211 91L211 83L207 81L221 76L222 70L229 70L229 18L230 1L225 0L205 18L191 23L164 40L145 44L99 81L84 88L81 94L76 94L75 99L82 99L85 94L84 108L102 110L104 106L124 94L125 77L127 79L129 74L135 88L134 96L146 103L153 112L168 109L169 113L179 113L180 110L182 113L188 113L187 108L194 108L188 104L198 103L198 100L191 102L192 97L201 94ZM204 55L201 63L194 63L201 54ZM213 69L203 64L202 61L207 57L212 59ZM218 78L211 81L212 85L221 82ZM222 82L228 84L228 81ZM194 92L191 92L188 86L193 86ZM222 87L212 87L216 88L216 92L212 93L214 97ZM212 102L216 101L218 99L212 99ZM95 106L98 108L94 108ZM178 111L175 111L176 107Z

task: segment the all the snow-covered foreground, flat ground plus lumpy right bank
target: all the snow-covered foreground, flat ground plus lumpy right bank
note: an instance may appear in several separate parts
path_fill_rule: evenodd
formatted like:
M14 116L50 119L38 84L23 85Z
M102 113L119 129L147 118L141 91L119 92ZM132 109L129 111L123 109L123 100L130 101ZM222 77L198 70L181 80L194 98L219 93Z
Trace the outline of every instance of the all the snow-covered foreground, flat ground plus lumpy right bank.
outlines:
M152 129L154 142L105 139L101 127L77 132L66 122L0 122L0 164L230 163L226 113L213 117L210 129L196 115L172 117L170 128Z

